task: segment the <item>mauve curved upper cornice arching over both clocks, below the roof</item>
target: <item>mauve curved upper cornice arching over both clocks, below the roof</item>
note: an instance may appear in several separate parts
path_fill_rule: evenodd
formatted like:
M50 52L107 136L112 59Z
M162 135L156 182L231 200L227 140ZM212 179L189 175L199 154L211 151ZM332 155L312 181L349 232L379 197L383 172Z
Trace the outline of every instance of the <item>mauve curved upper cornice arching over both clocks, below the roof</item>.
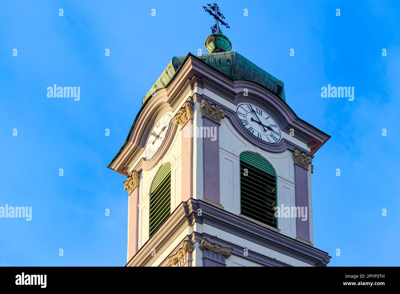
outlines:
M126 142L109 164L109 167L117 172L126 174L126 172L123 171L123 165L130 158L134 150L141 146L142 136L148 133L146 126L151 122L152 116L154 116L157 111L160 111L160 108L168 109L174 113L176 107L179 107L177 103L182 101L180 95L184 93L183 90L194 90L196 87L209 88L212 92L228 99L236 105L240 99L246 100L249 97L254 97L259 101L268 103L270 107L282 114L282 119L286 121L288 128L294 128L296 132L295 137L298 133L300 136L303 136L303 139L306 137L310 138L308 144L311 149L311 154L314 154L314 152L330 138L329 135L298 118L286 102L263 86L247 80L232 80L194 56L189 56L187 60L181 64L175 74L175 78L166 85L166 88L158 90L153 97L146 100L146 103L142 106L135 118ZM245 88L248 90L248 97L243 96ZM208 102L212 101L208 100ZM227 108L223 106L218 107L224 108L225 112L227 112ZM142 142L142 144L144 144L144 142ZM279 151L277 150L276 152Z

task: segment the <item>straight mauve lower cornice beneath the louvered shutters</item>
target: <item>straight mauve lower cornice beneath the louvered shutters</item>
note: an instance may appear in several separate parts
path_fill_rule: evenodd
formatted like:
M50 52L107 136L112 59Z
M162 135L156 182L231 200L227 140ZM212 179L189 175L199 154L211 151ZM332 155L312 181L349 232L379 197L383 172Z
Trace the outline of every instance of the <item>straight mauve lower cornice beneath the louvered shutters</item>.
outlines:
M201 209L201 216L198 215L198 209ZM143 266L152 258L151 253L153 249L158 249L162 244L168 242L168 238L172 235L177 228L182 225L193 226L195 223L208 224L219 228L225 232L229 232L244 240L249 240L260 246L270 248L284 255L291 256L312 266L326 266L330 260L330 256L322 250L304 244L298 240L284 236L281 233L274 232L268 228L264 228L245 220L240 216L236 216L230 212L217 208L211 204L190 198L187 202L182 202L169 218L162 224L156 233L140 248L140 250L132 257L127 263L127 266ZM210 242L217 237L210 236L206 233L201 233ZM214 238L214 239L213 239ZM201 242L201 239L192 239L192 243ZM216 241L215 241L216 242ZM216 242L220 246L228 247L227 241ZM232 246L233 247L233 246ZM243 251L234 250L232 254L240 256L241 258L250 257L243 256ZM250 256L250 254L249 254ZM254 256L254 254L252 255ZM262 254L256 253L257 258L262 258ZM270 262L270 258L265 257L265 262ZM259 262L263 264L262 262Z

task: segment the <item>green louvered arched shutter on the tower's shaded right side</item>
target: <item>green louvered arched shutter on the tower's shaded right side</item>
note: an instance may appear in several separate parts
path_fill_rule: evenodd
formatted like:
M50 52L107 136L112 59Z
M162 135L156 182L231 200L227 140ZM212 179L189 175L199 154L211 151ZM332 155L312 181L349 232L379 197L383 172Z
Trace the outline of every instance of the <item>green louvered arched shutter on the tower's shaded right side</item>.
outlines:
M247 169L246 174L245 170ZM272 165L253 152L240 154L241 214L277 228L276 173Z

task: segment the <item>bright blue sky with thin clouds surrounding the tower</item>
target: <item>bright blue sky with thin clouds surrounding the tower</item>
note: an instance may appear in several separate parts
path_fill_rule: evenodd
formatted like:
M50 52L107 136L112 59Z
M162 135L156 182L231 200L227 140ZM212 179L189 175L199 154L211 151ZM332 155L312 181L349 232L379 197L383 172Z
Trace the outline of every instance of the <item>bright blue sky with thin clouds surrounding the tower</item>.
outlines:
M0 206L32 206L32 220L0 218L0 266L126 263L124 176L106 166L172 57L206 53L206 3L2 2ZM218 5L232 50L282 80L296 114L332 136L313 160L316 247L330 266L398 266L398 1ZM53 84L80 86L80 101L48 98ZM354 86L354 101L321 98L328 84Z

